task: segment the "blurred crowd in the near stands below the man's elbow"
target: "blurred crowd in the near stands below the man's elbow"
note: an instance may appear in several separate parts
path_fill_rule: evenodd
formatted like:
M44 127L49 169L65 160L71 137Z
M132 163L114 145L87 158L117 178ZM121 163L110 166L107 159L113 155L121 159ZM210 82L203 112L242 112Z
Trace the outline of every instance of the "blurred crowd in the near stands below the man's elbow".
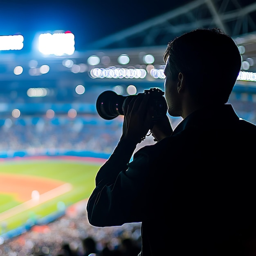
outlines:
M140 223L93 227L87 201L68 208L65 216L0 245L1 256L137 256L141 247Z

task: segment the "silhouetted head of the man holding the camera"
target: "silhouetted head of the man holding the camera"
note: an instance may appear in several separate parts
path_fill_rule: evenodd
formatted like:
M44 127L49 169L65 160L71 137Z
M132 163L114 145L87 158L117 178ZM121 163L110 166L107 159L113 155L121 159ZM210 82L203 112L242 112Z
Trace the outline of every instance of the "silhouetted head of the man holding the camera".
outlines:
M189 114L184 104L197 109L227 103L241 67L238 47L221 29L195 29L175 38L164 61L168 112L182 117Z

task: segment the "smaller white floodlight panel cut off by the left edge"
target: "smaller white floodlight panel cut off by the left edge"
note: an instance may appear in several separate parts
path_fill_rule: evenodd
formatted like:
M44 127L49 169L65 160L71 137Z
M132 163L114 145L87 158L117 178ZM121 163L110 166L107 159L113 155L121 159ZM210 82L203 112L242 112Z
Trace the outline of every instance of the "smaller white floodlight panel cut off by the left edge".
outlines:
M22 35L0 36L0 51L21 50L23 41Z

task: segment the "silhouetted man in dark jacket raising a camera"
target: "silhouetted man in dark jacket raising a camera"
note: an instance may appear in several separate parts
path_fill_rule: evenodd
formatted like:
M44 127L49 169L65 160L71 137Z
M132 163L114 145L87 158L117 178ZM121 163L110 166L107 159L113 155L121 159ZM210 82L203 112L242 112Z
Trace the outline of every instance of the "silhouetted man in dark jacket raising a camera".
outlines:
M153 122L150 95L133 97L97 173L89 222L141 222L141 256L256 255L256 126L228 103L238 47L220 29L196 29L168 43L164 60L168 114L183 120L174 130L167 115ZM157 142L131 160L149 130Z

